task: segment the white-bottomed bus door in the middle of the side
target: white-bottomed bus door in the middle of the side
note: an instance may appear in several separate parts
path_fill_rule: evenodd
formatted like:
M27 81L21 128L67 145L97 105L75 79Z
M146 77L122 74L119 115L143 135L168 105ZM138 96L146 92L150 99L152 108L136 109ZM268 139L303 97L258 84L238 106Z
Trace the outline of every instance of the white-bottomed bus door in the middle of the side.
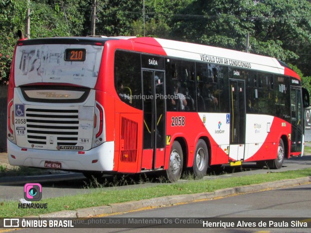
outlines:
M245 84L230 80L230 160L244 159L245 148Z

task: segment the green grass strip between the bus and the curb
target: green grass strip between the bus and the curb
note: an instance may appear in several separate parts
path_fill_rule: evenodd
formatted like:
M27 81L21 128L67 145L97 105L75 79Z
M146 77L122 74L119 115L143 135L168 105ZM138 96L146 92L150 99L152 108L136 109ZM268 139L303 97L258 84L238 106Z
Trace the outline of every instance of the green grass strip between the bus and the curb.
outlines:
M129 189L94 189L94 192L84 195L49 198L35 203L48 203L48 209L18 209L18 201L4 201L0 203L0 217L37 216L55 211L76 210L92 206L109 205L132 200L151 199L163 196L213 192L217 189L229 188L255 183L271 182L283 179L311 176L311 168L267 172L243 177L223 178L216 180L191 180L185 183L168 183L154 187Z

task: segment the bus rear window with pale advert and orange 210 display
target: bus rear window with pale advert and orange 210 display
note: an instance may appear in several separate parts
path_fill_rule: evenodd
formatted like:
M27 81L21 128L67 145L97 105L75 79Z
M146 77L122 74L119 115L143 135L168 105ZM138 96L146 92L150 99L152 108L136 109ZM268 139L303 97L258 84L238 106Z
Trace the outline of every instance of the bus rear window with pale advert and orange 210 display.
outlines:
M104 47L92 45L17 46L16 86L28 83L72 83L95 86Z

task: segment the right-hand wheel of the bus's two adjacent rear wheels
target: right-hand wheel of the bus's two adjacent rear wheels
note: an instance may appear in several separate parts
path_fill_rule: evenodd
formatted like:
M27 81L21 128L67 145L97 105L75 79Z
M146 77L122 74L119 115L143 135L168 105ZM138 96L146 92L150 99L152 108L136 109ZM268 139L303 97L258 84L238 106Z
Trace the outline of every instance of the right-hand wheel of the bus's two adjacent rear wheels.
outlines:
M207 173L208 150L204 140L199 139L193 157L193 174L195 179L202 179Z

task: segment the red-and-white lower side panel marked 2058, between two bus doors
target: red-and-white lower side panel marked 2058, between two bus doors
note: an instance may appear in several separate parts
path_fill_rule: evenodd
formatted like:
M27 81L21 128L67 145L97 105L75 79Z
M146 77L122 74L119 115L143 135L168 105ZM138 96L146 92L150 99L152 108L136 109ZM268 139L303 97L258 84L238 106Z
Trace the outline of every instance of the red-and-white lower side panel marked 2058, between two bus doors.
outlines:
M184 118L184 124L179 123L179 117ZM177 137L186 140L188 157L187 166L193 164L196 143L200 138L208 138L211 153L209 154L210 164L228 163L227 147L229 141L229 128L225 124L226 114L190 113L190 112L168 112L167 113L167 145L165 153L164 169L169 167L170 152L173 141ZM183 122L183 120L181 121ZM224 125L223 125L223 123ZM209 131L208 131L209 129ZM207 145L208 146L208 145Z

